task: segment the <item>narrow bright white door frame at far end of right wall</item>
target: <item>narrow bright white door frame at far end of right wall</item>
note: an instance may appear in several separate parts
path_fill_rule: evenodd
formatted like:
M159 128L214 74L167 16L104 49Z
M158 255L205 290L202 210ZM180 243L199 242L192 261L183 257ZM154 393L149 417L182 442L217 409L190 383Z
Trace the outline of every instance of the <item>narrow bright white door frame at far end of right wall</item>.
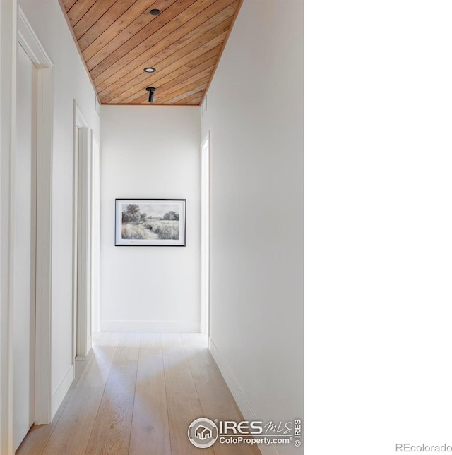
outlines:
M210 131L201 145L201 333L210 336Z

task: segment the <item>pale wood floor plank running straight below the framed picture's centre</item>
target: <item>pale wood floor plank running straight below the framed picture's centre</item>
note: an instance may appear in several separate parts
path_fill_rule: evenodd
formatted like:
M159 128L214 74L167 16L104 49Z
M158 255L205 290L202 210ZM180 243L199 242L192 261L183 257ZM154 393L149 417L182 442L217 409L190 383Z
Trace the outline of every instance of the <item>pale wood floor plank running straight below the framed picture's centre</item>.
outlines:
M129 455L172 455L160 333L143 333Z

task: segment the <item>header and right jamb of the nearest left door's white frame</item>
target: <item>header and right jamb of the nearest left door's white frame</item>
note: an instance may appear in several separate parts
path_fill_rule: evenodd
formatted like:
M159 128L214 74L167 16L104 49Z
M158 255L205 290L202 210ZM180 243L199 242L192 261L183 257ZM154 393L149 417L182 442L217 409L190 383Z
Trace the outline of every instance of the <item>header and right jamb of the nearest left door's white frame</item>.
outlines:
M52 419L53 63L20 7L17 24L18 42L37 68L35 423L49 423Z

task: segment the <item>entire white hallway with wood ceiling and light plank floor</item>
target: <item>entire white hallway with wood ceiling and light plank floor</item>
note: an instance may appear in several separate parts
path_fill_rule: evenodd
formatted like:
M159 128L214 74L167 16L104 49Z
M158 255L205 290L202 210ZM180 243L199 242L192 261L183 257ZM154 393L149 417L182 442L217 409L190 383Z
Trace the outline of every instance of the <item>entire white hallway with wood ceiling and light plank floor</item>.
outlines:
M302 455L303 2L0 5L0 455Z

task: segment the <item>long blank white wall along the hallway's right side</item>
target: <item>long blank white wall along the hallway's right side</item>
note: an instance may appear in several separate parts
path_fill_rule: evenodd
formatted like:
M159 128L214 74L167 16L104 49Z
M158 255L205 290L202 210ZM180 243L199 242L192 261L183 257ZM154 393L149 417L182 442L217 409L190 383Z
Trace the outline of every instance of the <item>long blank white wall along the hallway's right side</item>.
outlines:
M211 350L244 417L273 421L303 413L303 4L280 3L244 1L201 120Z

